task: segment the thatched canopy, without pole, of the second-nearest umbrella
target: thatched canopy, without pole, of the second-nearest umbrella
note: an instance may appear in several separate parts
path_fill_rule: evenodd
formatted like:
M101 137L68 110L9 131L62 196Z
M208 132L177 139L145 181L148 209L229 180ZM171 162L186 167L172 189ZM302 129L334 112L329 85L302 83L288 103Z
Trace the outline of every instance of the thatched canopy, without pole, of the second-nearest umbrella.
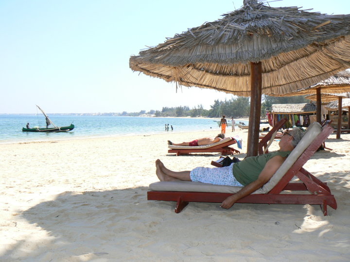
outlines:
M317 88L321 88L322 93L334 94L350 92L350 69L338 72L326 80L315 83L305 88L300 88L290 94L286 94L285 96L301 96L315 94ZM323 97L325 96L321 95L322 101L324 101Z

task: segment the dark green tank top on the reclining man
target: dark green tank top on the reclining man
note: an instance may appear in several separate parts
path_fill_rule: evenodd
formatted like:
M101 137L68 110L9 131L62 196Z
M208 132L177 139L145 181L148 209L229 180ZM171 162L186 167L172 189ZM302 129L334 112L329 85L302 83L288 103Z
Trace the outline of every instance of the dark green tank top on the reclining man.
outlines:
M247 157L245 160L233 165L233 176L242 185L250 184L258 179L267 161L275 156L287 157L290 151L271 152L260 156Z

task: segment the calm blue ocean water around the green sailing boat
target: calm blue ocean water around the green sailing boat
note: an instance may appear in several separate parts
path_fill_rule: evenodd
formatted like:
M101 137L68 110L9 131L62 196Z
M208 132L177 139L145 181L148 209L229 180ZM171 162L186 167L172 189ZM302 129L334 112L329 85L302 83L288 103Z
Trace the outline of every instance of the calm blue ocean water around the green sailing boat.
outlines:
M69 126L70 123L73 123L74 130L58 133L22 132L22 127L25 127L27 122L30 123L30 127L45 127L45 117L43 115L0 115L0 144L165 133L167 132L165 124L169 124L168 132L171 132L171 125L174 127L173 132L203 131L210 130L210 128L220 131L214 122L219 118L48 115L56 126Z

